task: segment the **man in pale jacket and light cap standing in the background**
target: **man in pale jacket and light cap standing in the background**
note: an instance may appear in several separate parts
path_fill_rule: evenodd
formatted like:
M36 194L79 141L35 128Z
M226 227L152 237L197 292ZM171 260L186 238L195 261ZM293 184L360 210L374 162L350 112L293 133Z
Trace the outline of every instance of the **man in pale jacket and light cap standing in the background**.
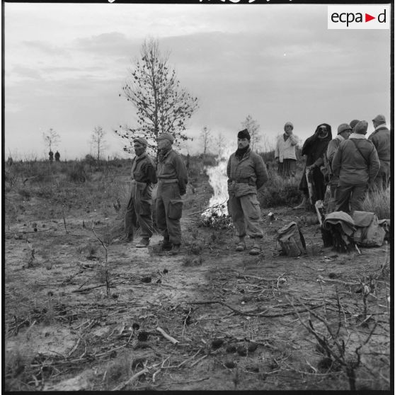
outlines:
M285 133L277 137L275 145L275 160L278 164L278 173L282 177L294 177L296 172L295 146L297 137L292 134L294 125L287 122L284 125Z

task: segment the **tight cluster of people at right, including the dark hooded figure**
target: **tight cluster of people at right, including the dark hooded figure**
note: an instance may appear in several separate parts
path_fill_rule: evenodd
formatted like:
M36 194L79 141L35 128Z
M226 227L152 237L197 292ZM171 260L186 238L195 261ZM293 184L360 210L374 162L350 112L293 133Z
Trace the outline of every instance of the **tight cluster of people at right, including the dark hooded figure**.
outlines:
M368 122L352 120L338 126L332 139L331 126L321 124L304 142L306 168L299 184L304 199L296 208L305 207L309 196L307 173L311 175L313 198L322 200L326 212L363 211L368 190L387 189L390 181L391 141L384 115L377 115L374 132L366 138ZM306 173L306 170L308 172Z

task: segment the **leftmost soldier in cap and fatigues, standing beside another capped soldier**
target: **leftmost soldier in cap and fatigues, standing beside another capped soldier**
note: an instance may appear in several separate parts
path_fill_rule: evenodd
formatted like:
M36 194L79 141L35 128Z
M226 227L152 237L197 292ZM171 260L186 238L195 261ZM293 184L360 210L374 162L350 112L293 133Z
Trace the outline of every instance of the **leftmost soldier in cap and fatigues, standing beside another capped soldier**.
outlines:
M125 212L126 239L132 241L139 225L142 239L137 248L147 247L153 234L151 194L152 184L156 183L156 170L147 152L147 140L138 137L133 140L136 156L132 160L132 183L130 199Z

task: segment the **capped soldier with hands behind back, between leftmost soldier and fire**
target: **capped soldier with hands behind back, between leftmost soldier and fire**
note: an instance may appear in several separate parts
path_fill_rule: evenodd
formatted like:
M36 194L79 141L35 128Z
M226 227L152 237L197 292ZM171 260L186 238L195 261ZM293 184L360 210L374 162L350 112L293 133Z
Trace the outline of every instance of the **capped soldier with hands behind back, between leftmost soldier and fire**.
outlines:
M178 253L181 246L183 200L188 174L181 155L173 151L174 137L161 133L158 142L158 190L156 195L156 223L164 236L162 249Z

